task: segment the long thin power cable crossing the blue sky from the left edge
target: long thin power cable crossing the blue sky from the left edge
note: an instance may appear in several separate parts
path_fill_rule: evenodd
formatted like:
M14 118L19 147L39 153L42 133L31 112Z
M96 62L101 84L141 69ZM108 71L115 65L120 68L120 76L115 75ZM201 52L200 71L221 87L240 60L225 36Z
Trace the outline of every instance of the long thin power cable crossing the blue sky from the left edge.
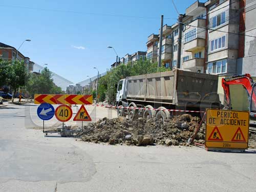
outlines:
M77 11L70 11L70 10L32 8L32 7L13 6L13 5L0 5L0 7L30 9L30 10L37 10L37 11L59 12L59 13L74 13L74 14L84 14L84 15L99 15L99 16L127 17L127 18L141 18L141 19L159 19L158 17L145 17L145 16L135 16L135 15L117 15L117 14L110 14L110 13L88 13L88 12L77 12ZM177 20L177 18L170 18L170 17L166 17L165 19Z

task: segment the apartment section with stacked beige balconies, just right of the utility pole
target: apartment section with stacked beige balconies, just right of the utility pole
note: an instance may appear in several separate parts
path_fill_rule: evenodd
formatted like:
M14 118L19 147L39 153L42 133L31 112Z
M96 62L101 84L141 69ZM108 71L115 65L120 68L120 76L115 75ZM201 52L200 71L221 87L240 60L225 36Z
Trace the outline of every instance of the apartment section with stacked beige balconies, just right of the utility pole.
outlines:
M181 47L181 68L184 70L204 72L206 42L206 32L204 29L206 27L205 15L206 8L204 3L198 1L186 9L183 23L187 25L183 26ZM173 66L176 66L175 62L173 61Z

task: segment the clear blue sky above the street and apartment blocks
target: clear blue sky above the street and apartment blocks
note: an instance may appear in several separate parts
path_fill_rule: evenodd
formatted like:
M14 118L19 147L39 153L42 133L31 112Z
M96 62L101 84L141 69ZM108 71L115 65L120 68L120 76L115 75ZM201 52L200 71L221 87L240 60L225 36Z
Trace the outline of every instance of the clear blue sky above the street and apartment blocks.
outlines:
M184 13L195 0L174 2ZM17 48L31 39L20 52L73 82L96 75L93 67L110 68L116 55L107 46L120 57L146 51L147 36L158 33L161 14L168 25L178 17L172 0L1 0L0 10L1 42Z

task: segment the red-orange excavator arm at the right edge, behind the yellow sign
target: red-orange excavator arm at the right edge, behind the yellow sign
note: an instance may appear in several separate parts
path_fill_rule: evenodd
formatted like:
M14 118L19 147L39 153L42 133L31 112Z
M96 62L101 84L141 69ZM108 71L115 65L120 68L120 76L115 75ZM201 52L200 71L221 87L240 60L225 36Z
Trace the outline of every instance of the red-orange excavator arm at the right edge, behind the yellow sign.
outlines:
M222 79L222 87L225 94L225 109L232 110L231 98L235 99L239 95L230 97L230 85L241 84L247 92L250 112L250 124L256 125L256 83L251 78L250 74L234 75Z

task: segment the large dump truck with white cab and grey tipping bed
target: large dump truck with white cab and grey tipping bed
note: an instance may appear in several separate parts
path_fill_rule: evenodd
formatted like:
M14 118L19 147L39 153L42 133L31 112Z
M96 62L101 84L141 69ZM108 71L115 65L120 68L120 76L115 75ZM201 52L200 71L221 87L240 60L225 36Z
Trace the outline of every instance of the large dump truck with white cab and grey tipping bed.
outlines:
M117 86L119 117L169 119L175 112L220 109L218 75L173 71L121 79Z

